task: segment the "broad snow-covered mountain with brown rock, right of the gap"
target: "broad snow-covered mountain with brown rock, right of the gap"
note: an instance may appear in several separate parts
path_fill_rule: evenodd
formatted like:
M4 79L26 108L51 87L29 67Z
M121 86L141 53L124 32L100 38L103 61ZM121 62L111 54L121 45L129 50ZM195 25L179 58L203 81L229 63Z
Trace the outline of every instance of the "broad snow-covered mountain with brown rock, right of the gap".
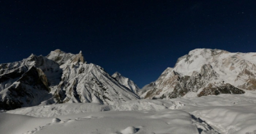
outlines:
M256 89L256 53L195 49L140 91L142 98L242 94Z

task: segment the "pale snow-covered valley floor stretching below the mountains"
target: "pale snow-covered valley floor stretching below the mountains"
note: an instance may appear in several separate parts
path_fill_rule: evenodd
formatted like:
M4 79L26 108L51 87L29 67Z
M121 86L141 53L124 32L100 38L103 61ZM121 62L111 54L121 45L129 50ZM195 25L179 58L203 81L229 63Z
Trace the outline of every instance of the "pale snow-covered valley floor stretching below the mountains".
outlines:
M19 108L0 113L0 133L255 134L256 92Z

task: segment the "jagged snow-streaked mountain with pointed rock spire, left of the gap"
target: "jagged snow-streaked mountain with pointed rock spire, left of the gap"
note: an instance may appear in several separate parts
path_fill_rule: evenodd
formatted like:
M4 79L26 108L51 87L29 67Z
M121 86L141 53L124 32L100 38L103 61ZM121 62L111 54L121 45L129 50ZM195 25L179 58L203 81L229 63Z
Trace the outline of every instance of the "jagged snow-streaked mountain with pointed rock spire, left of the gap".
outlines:
M48 56L31 55L0 64L0 109L51 103L101 103L137 100L139 96L96 64L87 64L81 52L61 50Z

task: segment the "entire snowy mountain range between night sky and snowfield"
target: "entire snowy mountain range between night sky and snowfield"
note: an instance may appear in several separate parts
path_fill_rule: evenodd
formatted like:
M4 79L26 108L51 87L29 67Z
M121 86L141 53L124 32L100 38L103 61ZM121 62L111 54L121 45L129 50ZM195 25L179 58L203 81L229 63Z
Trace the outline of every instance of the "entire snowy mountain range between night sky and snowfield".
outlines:
M87 64L82 52L50 52L0 64L0 109L53 103L100 103L243 94L256 89L256 53L200 48L178 59L142 89L116 72Z

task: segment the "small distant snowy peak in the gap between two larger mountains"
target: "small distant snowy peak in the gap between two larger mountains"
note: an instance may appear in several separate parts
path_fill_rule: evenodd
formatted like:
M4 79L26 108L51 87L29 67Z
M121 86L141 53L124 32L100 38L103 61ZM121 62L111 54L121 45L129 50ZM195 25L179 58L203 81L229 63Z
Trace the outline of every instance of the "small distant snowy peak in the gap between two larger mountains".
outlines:
M133 93L138 93L139 87L129 78L123 77L120 73L115 72L112 77L115 78L119 83L123 84L123 86L127 87Z

